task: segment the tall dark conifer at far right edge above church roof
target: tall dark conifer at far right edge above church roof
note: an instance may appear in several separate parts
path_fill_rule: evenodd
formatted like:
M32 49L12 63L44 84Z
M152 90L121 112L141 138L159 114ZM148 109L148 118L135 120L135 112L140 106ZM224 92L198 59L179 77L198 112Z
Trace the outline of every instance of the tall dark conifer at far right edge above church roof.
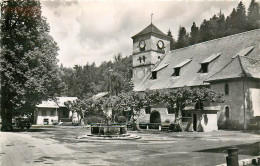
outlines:
M247 29L260 28L260 9L259 4L255 0L251 0L248 12L247 12Z

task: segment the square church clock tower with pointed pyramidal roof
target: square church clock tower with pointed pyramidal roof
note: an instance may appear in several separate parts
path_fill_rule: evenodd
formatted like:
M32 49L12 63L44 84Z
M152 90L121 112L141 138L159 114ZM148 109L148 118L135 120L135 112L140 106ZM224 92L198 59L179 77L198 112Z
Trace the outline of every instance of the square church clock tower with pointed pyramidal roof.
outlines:
M163 54L170 51L171 38L152 23L132 37L133 84L137 87L151 73Z

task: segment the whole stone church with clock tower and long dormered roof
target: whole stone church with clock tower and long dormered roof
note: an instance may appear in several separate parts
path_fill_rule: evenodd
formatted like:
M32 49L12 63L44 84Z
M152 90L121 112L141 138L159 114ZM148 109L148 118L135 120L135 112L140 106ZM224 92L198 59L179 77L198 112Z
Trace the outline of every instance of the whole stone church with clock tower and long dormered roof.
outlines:
M152 23L132 37L134 91L206 87L224 103L182 111L186 131L250 129L260 122L260 29L170 50L171 38ZM140 123L173 122L171 110L141 110Z

